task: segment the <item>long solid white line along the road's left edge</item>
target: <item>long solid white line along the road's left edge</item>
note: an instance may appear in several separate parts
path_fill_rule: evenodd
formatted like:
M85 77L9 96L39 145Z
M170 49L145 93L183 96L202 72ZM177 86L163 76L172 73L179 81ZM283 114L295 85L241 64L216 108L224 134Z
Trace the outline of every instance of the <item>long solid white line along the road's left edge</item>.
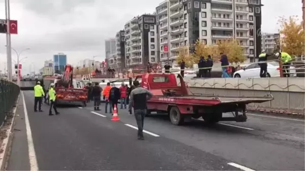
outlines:
M33 143L33 137L32 137L32 131L31 126L29 125L27 110L25 106L25 100L24 100L24 94L22 93L22 100L23 100L23 108L24 108L24 118L25 118L25 128L26 128L26 138L27 138L27 146L28 146L28 158L29 158L29 164L31 165L31 171L38 171L38 162L36 158L34 143Z

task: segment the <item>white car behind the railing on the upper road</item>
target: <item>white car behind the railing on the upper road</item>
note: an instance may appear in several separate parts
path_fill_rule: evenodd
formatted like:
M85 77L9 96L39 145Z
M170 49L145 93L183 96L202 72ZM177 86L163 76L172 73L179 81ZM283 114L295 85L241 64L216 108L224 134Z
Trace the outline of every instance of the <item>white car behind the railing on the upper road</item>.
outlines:
M290 66L290 77L296 77L294 66ZM258 63L246 64L242 70L236 71L233 75L234 78L260 78L260 66ZM266 77L280 77L280 67L278 62L267 63Z

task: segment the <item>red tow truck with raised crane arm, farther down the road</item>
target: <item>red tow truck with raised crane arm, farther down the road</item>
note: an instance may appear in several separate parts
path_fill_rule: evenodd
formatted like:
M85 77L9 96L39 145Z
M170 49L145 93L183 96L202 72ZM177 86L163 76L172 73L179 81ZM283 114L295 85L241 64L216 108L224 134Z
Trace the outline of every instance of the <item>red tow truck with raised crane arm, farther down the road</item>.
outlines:
M87 100L87 90L82 89L80 82L73 80L73 67L65 66L63 75L44 77L43 83L49 88L51 83L55 84L56 100L59 104L71 102L82 102L84 105Z

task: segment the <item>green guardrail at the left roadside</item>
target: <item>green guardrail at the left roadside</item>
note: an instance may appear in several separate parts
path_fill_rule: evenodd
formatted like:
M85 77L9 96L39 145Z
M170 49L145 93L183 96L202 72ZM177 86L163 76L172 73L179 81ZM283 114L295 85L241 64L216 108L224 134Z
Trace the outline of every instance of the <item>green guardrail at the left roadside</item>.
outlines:
M19 93L20 87L16 83L0 79L0 125L5 121L7 114L16 106Z

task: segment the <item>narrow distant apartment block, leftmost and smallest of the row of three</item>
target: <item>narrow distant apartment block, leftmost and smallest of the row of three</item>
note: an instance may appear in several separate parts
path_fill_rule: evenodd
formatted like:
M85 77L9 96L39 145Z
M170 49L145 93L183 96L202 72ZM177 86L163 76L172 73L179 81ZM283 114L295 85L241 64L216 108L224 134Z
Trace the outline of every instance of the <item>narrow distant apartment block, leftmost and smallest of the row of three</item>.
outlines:
M120 30L115 35L115 51L108 57L108 66L115 68L125 68L125 31Z

